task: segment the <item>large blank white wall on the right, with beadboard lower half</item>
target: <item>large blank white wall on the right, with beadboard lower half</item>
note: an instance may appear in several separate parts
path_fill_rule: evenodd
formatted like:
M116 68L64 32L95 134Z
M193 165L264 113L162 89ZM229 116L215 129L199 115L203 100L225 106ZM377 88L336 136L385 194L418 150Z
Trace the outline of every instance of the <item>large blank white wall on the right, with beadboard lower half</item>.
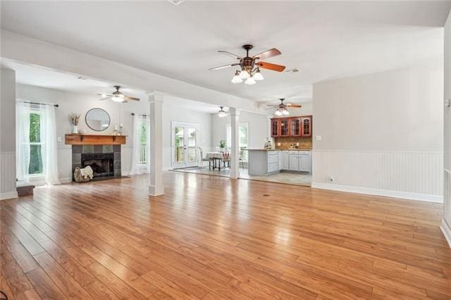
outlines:
M315 84L314 186L440 201L442 98L439 63Z

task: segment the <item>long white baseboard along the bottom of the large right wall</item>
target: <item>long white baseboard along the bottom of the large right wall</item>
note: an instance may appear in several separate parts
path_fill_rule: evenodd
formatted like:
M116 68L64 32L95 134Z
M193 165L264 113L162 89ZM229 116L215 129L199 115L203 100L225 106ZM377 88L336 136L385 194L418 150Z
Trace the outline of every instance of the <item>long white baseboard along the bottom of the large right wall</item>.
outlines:
M311 187L314 187L316 189L332 189L334 191L340 191L340 192L351 192L351 193L387 196L387 197L409 199L409 200L443 203L442 195L390 191L388 189L371 189L369 187L352 187L349 185L334 185L331 183L323 183L323 182L311 182Z

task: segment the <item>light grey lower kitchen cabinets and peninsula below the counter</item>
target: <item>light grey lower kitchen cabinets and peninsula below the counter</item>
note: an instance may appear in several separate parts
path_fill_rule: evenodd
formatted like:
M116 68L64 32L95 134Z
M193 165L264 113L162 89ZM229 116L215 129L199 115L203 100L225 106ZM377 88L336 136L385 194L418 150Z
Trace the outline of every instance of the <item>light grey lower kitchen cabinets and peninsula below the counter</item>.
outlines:
M249 149L249 175L311 173L311 149Z

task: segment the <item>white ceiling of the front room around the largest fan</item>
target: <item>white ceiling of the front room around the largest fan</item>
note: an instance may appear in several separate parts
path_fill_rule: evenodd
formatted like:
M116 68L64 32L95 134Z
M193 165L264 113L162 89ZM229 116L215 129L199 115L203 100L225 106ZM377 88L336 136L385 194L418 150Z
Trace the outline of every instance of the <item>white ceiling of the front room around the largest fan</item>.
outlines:
M443 59L451 1L1 1L1 28L256 101L311 99L311 84ZM277 47L254 86L217 50Z

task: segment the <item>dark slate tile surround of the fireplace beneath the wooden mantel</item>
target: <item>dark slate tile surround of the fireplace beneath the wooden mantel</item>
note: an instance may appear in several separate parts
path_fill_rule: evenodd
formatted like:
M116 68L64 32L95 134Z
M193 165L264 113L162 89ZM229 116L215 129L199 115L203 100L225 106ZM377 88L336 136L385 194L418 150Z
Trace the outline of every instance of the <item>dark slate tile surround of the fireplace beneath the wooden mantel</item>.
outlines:
M88 154L88 155L86 155ZM97 155L96 155L97 154ZM105 168L112 168L111 172L97 178L121 177L121 145L72 145L72 181L75 168L83 168L83 159L92 161L98 159L112 160L112 163L106 163ZM96 177L94 177L96 178Z

